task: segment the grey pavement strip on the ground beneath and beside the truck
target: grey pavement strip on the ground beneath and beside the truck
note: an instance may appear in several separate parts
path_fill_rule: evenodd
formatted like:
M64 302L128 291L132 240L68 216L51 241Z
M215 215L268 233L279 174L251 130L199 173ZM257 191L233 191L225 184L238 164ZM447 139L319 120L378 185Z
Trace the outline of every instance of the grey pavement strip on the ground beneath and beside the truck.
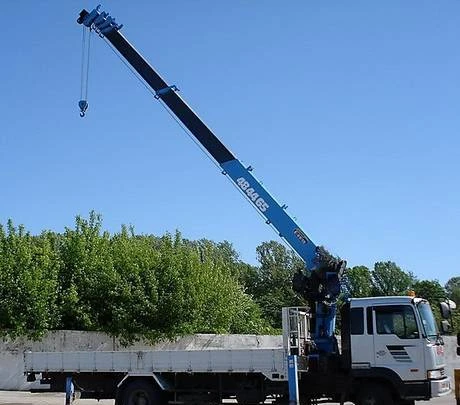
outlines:
M30 392L0 391L0 405L64 405L64 394L31 394ZM113 400L77 400L75 405L113 405ZM454 394L431 401L419 401L419 405L453 405Z

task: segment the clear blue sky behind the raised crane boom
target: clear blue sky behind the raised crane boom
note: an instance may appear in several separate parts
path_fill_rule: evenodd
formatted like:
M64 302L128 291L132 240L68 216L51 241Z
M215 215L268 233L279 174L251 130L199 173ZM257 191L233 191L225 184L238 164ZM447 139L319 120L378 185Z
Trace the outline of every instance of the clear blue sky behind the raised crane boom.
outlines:
M2 3L0 223L279 240L104 40L89 1ZM460 275L460 2L106 1L121 32L317 244Z

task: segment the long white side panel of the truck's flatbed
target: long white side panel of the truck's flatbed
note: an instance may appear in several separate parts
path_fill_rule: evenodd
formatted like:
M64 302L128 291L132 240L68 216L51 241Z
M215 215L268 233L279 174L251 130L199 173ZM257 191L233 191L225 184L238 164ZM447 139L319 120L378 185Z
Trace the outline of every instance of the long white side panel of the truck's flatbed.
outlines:
M259 373L287 380L284 348L26 352L26 373Z

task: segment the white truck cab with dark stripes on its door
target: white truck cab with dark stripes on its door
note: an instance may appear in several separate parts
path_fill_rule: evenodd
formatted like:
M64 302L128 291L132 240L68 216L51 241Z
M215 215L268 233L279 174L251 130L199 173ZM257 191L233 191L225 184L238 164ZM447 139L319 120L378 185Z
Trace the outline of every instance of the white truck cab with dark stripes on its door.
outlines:
M344 316L349 317L350 331L349 342L345 338L342 347L357 381L386 381L407 400L450 393L444 342L428 301L404 296L353 298Z

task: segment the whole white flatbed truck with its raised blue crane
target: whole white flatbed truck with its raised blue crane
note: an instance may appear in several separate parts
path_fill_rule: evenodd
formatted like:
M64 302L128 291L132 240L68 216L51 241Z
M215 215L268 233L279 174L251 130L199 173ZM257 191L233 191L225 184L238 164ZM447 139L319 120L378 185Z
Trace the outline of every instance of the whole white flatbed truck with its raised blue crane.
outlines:
M305 307L282 309L283 346L258 349L121 352L26 352L28 381L51 391L75 387L81 398L116 405L259 404L330 401L409 405L451 392L444 343L428 301L415 296L347 298L340 306L346 261L317 246L252 174L125 39L100 6L77 22L124 58L206 153L305 263L293 289ZM80 100L81 115L87 109Z

